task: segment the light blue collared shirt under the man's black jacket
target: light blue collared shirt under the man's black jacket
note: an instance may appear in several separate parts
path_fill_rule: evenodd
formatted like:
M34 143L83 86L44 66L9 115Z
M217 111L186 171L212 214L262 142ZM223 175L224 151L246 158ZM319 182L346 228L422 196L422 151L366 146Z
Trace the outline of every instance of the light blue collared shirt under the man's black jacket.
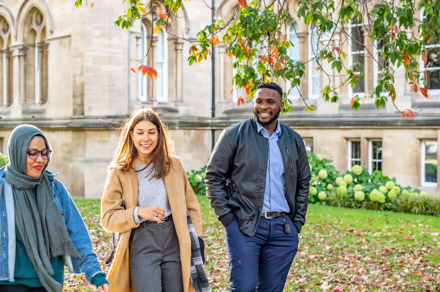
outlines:
M284 162L278 137L281 134L281 126L277 121L277 128L272 135L257 122L257 130L265 138L269 139L269 155L267 158L266 187L264 188L264 202L262 212L290 212L284 193L286 191L286 179L284 176Z

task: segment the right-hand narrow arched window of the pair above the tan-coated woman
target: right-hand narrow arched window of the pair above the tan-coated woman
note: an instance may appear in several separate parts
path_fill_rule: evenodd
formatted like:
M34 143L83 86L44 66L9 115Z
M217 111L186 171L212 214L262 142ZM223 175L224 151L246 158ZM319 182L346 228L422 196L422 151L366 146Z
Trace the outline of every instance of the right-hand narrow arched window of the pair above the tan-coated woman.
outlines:
M156 46L156 100L168 101L168 41L167 33L164 29L160 30Z

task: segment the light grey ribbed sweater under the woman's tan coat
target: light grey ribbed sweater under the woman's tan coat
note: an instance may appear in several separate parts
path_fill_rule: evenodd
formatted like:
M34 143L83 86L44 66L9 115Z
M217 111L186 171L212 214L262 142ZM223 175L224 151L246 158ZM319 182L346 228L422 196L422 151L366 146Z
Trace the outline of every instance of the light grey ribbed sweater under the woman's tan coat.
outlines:
M136 170L141 170L145 165L136 164ZM138 217L137 211L139 207L148 206L158 206L165 210L165 217L171 214L170 204L168 201L168 196L166 193L165 183L163 178L156 179L153 178L154 172L149 174L151 168L150 164L147 168L137 173L138 180L138 195L137 195L137 205L134 208L133 217L134 222L140 223L145 221L145 219ZM149 174L149 175L148 175Z

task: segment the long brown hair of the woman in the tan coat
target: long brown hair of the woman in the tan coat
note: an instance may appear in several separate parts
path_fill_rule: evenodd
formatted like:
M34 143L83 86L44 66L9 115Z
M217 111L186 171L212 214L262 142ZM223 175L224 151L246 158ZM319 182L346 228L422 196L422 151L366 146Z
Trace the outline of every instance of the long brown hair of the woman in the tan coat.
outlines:
M121 135L116 151L114 152L113 158L110 162L110 168L114 167L122 171L128 171L133 165L133 160L137 156L137 149L133 145L131 132L141 121L150 121L157 127L157 132L159 135L157 139L157 146L153 150L148 165L153 163L153 177L162 178L169 173L171 167L171 155L174 152L172 147L173 143L169 138L168 128L159 118L156 110L148 105L134 110L119 128ZM146 167L147 166L145 166L145 168Z

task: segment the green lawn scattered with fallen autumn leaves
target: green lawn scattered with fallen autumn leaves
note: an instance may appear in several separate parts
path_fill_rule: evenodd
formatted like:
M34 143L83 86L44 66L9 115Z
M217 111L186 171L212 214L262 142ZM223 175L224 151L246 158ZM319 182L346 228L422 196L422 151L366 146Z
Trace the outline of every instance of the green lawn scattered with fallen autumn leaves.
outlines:
M206 269L213 292L226 292L224 235L209 201L198 196L203 215ZM99 200L75 200L99 260L110 235L99 226ZM440 218L309 205L286 292L440 291ZM64 291L92 291L82 276L67 276Z

